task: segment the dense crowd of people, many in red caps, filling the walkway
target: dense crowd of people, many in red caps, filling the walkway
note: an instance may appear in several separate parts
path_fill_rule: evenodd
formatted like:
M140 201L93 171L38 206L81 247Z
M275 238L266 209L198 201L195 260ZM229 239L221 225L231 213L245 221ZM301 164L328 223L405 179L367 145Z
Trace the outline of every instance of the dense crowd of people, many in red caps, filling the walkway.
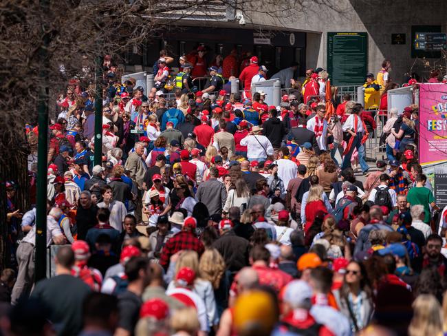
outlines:
M15 205L18 187L34 202L35 188L6 183L5 335L446 332L447 225L418 164L417 105L386 113L388 160L365 160L389 61L367 74L364 106L328 96L323 69L298 83L292 65L281 78L297 94L274 107L250 92L268 71L256 56L230 70L241 93L223 90L217 65L193 90L201 52L180 58L173 99L166 53L150 92L105 57L100 164L94 92L69 81L50 125L47 280L34 283L36 209ZM31 148L38 132L27 125Z

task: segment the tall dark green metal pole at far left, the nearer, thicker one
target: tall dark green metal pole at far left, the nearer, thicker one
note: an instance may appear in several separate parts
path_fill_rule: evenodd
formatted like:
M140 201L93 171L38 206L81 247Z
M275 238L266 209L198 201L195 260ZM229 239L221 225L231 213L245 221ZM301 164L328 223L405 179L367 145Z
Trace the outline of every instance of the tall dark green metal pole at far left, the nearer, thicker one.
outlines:
M43 17L49 10L47 0L40 1ZM48 57L47 48L50 36L42 23L43 41L39 50L41 59L41 88L39 92L38 122L39 136L37 147L37 194L36 194L36 251L34 255L34 282L46 277L47 273L47 144L48 144Z

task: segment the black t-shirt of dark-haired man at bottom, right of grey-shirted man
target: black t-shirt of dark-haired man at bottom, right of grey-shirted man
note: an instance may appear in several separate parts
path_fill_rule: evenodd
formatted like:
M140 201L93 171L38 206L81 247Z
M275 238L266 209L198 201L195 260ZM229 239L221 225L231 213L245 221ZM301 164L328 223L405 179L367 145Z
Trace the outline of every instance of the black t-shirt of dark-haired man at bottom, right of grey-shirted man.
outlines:
M133 330L138 322L141 305L141 298L131 291L125 291L118 295L118 328L123 328L124 330L129 331L131 335L134 335Z

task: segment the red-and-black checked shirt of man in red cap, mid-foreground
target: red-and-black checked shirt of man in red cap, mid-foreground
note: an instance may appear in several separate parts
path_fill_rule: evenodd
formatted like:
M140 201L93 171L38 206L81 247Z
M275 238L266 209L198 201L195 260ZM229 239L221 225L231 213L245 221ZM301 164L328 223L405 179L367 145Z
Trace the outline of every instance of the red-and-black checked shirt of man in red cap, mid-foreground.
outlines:
M160 265L167 269L171 255L182 250L193 250L199 253L200 256L205 248L204 244L193 233L180 231L164 244L162 255L160 256Z

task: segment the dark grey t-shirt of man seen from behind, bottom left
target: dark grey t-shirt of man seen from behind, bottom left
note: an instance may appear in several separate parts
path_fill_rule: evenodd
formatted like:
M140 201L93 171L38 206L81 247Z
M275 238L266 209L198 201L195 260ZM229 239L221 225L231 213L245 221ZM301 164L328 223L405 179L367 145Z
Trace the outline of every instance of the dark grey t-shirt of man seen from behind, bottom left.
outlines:
M39 281L31 297L50 309L57 335L78 335L83 327L83 302L90 287L72 275L56 275Z

